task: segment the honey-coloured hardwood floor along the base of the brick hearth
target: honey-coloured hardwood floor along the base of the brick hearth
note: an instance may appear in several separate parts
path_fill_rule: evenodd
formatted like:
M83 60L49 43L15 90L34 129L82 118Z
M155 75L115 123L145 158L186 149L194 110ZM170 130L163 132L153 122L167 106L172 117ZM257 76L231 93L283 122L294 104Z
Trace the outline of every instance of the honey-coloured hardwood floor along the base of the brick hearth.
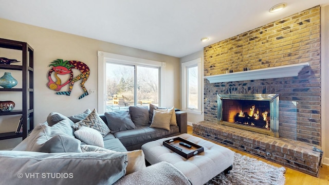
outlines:
M191 134L191 135L194 135L192 126L188 125L187 133ZM198 135L194 135L194 136L198 136ZM205 138L203 138L203 139L205 139ZM208 140L208 139L206 139L206 140ZM211 140L208 140L208 141L211 141ZM214 141L211 141L211 142L222 145L222 146L225 146L221 143L217 143L217 142L214 142ZM251 154L248 154L248 153L236 150L236 149L233 149L232 147L229 147L229 146L225 146L225 147L227 147L228 149L230 149L230 150L232 150L236 153L239 153L239 154L251 157L251 158L256 158L258 160L261 160L261 161L264 161L268 164L271 164L275 167L284 167L281 164L277 164L275 162L267 161L266 159L263 159L263 158L260 158L260 157L257 157L257 156L254 156L254 155L251 155ZM285 182L286 185L290 185L290 184L291 185L296 185L296 184L298 184L298 185L311 185L311 184L312 185L318 185L318 184L320 184L320 185L329 185L329 167L327 165L323 165L322 167L320 167L319 177L314 177L312 175L308 175L308 174L299 172L297 170L290 169L288 167L284 167L284 168L286 169L286 173L284 175L285 178L286 178L286 182Z

